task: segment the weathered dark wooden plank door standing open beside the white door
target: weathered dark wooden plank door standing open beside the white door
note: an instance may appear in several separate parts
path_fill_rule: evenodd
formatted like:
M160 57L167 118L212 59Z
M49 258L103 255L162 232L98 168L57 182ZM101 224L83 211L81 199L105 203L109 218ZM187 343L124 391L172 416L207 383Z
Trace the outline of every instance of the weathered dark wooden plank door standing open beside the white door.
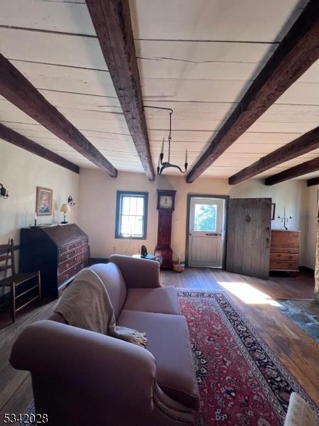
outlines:
M271 198L231 198L226 269L269 278Z

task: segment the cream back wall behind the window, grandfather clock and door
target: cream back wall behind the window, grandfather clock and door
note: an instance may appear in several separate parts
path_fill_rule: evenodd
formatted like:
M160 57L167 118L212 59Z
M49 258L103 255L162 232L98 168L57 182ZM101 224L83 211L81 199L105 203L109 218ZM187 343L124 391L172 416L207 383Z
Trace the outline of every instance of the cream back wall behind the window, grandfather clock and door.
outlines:
M260 180L242 182L236 186L228 185L227 179L199 178L191 185L184 176L162 175L155 182L149 182L145 175L138 173L118 173L118 178L109 178L100 170L81 169L79 178L79 226L89 235L92 257L108 258L113 252L128 255L138 253L145 244L150 253L157 241L158 189L177 190L175 211L172 219L172 249L174 259L184 259L186 240L186 202L187 194L230 195L230 197L272 197L276 203L276 216L283 214L284 206L291 212L293 220L289 229L301 230L304 234L305 189L306 182L294 180L266 187ZM147 239L115 239L116 191L133 190L149 192L147 215ZM272 221L274 229L281 223ZM301 250L302 251L302 250Z

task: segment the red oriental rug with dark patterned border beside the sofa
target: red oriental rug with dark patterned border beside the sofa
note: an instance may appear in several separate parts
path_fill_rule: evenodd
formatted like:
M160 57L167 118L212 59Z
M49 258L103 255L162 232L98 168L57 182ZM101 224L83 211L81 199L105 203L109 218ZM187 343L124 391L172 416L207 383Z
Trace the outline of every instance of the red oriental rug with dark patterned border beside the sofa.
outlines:
M291 392L319 410L225 293L178 290L201 407L196 425L283 425Z

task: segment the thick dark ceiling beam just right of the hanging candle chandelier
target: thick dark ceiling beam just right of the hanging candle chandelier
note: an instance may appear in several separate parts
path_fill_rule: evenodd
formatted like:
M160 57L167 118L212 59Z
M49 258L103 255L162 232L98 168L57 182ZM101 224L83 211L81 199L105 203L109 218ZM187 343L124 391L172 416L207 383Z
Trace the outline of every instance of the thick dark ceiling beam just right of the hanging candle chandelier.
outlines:
M310 0L225 124L188 173L191 183L319 58L319 1Z

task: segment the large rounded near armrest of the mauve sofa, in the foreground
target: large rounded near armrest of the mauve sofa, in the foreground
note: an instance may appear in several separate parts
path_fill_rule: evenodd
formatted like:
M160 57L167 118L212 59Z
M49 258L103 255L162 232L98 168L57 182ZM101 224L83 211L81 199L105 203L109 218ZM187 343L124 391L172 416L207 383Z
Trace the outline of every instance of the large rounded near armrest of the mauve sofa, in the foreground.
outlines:
M120 339L50 320L35 322L13 345L11 365L19 370L86 389L92 398L112 401L144 413L153 409L155 359L147 349Z

